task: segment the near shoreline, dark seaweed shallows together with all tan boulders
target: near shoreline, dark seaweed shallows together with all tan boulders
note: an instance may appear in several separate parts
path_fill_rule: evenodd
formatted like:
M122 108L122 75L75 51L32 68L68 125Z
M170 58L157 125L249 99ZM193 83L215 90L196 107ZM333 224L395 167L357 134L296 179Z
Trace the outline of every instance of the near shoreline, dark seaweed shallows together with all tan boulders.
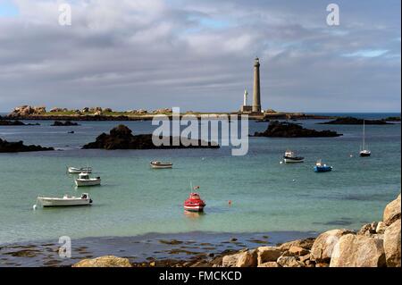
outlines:
M0 267L400 267L400 194L382 221L322 233L148 233L0 246ZM119 256L119 257L117 257Z

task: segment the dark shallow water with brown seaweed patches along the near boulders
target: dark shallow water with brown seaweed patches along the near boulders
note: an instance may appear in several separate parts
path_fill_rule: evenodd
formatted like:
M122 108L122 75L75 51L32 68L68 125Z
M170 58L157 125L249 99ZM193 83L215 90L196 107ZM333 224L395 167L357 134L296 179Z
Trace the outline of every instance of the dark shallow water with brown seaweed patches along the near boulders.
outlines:
M0 244L0 267L71 266L86 258L114 255L128 258L135 266L197 263L233 254L245 247L274 246L293 239L316 237L315 231L230 233L190 231L147 233L131 237L71 239L71 258L58 256L61 244L49 239Z

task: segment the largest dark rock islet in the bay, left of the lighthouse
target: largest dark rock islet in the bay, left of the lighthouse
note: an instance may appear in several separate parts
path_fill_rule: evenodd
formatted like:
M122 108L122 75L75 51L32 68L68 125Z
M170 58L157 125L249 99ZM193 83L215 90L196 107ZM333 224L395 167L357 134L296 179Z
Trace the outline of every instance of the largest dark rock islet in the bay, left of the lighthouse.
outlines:
M219 145L202 140L192 141L192 145L172 146L172 137L167 138L171 142L171 146L156 147L152 141L153 136L137 135L133 136L132 131L124 125L119 125L110 130L109 134L101 134L96 138L95 142L85 145L84 149L100 148L100 149L165 149L165 148L219 148Z

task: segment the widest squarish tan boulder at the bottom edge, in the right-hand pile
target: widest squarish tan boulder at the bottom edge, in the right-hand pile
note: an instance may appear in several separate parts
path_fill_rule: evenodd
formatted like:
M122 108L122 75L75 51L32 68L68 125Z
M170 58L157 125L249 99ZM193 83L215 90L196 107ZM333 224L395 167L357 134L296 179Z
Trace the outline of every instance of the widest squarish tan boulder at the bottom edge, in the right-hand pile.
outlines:
M335 245L330 267L384 267L383 239L348 234Z

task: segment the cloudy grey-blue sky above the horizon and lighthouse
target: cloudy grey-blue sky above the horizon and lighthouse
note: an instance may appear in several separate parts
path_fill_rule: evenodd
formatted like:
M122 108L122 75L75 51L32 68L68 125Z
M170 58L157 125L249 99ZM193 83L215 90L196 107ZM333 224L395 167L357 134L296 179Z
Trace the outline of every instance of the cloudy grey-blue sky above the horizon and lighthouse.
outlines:
M71 26L59 5L71 4ZM339 26L327 5L339 5ZM0 112L17 105L400 112L399 0L0 0ZM251 99L251 96L250 96Z

